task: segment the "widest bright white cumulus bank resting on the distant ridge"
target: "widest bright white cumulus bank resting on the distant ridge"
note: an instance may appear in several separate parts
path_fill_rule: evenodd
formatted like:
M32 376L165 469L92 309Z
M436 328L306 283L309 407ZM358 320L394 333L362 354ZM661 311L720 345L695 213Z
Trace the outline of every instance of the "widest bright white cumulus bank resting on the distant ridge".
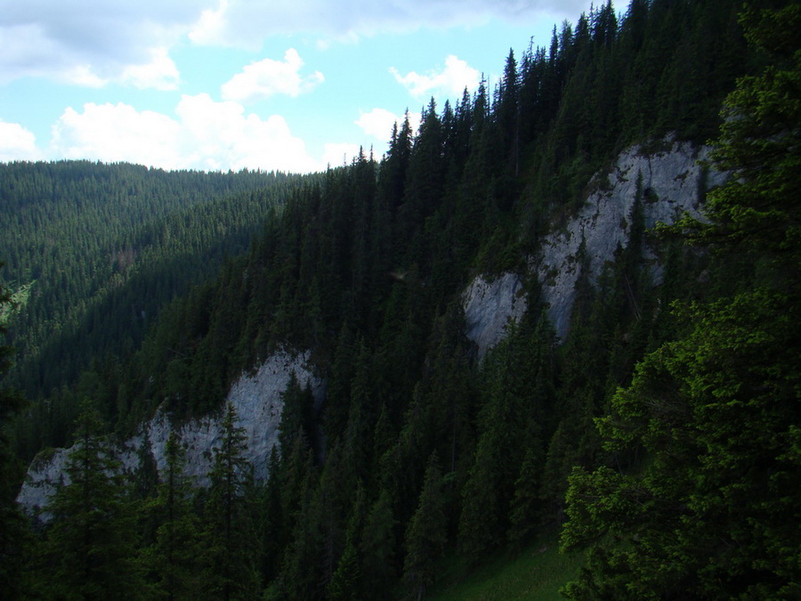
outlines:
M117 104L68 109L53 126L53 153L64 158L127 161L166 169L305 173L325 168L312 159L284 118L246 114L237 102L206 93L182 96L177 118Z

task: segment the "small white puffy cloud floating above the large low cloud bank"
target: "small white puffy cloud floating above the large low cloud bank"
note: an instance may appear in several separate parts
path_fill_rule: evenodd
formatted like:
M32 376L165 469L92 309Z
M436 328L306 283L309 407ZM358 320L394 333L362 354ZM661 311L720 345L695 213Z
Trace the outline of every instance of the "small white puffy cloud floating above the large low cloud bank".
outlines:
M276 93L287 94L293 98L301 93L312 91L324 80L320 71L301 76L303 60L295 48L284 53L283 61L263 59L253 62L241 73L231 77L220 88L225 100L247 102L269 98Z

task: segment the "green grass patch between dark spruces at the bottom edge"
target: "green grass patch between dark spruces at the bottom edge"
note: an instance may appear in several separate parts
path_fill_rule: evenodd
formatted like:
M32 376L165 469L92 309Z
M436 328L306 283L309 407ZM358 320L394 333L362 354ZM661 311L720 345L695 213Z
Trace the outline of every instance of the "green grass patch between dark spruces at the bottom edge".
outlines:
M578 575L583 554L560 555L555 540L540 540L515 556L490 557L475 570L453 560L426 599L432 601L514 601L562 599L559 589Z

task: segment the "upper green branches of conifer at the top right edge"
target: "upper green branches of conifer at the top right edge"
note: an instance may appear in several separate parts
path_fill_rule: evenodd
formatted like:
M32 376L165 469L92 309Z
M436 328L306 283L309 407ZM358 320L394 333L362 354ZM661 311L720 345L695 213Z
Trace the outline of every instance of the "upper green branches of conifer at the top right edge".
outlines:
M712 156L732 171L732 183L712 194L711 223L685 224L693 240L760 258L779 276L797 266L801 252L797 148L801 131L801 54L788 32L801 25L801 8L745 13L748 39L772 64L756 77L740 79L724 106L721 141ZM770 168L766 168L770 166Z

